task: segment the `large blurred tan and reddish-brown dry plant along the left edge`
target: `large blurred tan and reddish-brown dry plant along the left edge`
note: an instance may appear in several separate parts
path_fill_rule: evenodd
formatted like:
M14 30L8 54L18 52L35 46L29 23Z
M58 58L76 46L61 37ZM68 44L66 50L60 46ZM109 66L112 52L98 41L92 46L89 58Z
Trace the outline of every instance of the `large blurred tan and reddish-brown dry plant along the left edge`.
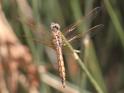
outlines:
M13 29L9 25L0 4L0 93L16 93L18 76L22 69L27 71L29 92L38 93L39 79L37 68L32 64L28 49L18 41ZM4 64L4 66L3 66ZM32 66L33 65L33 66ZM32 68L33 67L33 68ZM20 69L18 69L20 68ZM7 73L6 73L7 72ZM4 77L6 74L7 77ZM26 74L26 75L27 75ZM7 78L7 79L6 79ZM8 82L5 82L8 81ZM33 88L33 89L32 89Z

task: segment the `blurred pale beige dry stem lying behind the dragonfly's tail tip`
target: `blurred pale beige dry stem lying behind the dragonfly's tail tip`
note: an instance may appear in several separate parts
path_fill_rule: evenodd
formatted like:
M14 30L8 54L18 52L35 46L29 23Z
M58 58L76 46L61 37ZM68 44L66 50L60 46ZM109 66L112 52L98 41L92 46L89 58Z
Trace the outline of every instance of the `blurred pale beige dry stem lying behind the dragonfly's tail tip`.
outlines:
M68 82L66 84L66 87L62 88L60 86L60 84L61 84L60 79L58 77L48 73L45 70L44 66L39 66L38 69L39 69L38 71L40 73L40 78L41 78L42 82L46 83L47 85L57 89L58 91L60 91L62 93L79 93L79 91L75 88L75 86Z

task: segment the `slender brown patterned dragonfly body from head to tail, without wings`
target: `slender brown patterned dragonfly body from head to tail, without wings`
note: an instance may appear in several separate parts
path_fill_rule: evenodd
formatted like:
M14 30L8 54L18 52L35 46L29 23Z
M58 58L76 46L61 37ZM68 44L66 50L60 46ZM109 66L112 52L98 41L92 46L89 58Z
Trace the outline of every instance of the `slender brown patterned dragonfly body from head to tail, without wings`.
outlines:
M52 36L53 36L53 44L57 54L57 63L59 75L61 77L62 86L65 87L65 67L64 60L62 55L62 37L60 32L60 26L56 23L51 24Z

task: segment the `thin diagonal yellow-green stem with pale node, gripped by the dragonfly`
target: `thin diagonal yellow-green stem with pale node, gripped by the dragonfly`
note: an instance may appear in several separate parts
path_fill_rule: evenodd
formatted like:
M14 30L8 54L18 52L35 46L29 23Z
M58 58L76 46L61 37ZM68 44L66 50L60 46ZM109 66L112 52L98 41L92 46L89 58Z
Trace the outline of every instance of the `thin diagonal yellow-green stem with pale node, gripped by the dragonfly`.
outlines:
M86 68L84 62L79 58L78 54L74 51L73 47L69 44L69 42L67 41L67 39L64 37L64 35L62 35L63 41L65 42L65 44L67 45L67 47L71 50L71 52L73 53L75 59L77 60L78 64L81 66L81 68L84 70L84 72L87 74L87 76L89 77L90 81L93 83L93 85L95 86L96 90L98 91L98 93L104 93L103 90L101 89L101 87L98 85L97 81L94 79L94 77L91 75L91 73L88 71L88 69Z

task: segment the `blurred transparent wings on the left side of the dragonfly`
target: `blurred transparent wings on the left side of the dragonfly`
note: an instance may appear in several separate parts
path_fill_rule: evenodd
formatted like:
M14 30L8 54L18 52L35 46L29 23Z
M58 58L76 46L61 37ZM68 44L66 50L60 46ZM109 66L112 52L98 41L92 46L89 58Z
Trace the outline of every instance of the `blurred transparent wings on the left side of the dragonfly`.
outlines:
M32 35L21 35L20 38L30 39L36 44L42 44L51 48L54 48L52 41L52 36L49 31L47 31L42 25L32 25L30 26L32 30Z

